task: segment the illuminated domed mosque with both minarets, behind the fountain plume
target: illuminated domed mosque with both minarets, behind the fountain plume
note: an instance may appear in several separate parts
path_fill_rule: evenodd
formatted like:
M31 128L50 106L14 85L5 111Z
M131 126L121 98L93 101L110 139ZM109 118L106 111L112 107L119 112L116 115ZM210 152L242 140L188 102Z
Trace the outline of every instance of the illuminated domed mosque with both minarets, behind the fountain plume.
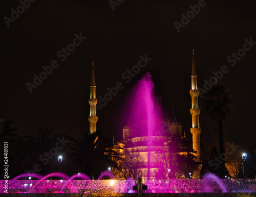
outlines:
M193 154L198 163L201 163L201 150L200 150L200 134L201 128L199 124L200 108L198 105L199 89L197 87L197 72L195 64L195 54L193 50L193 60L191 69L191 90L189 91L191 96L191 109L190 114L192 117L192 127L190 132L192 134L192 144L186 144L187 140L185 132L182 127L182 123L170 119L158 119L155 120L155 124L158 125L161 131L154 130L153 135L147 136L138 132L140 128L144 128L147 121L140 121L135 128L129 121L122 129L122 140L115 142L113 140L113 150L121 155L123 160L119 163L122 168L120 171L112 171L116 178L128 178L128 177L144 177L144 178L164 178L168 174L172 174L172 163L168 158L169 154L187 155L188 152ZM98 116L96 115L96 83L94 76L94 69L92 68L91 86L90 86L90 115L88 117L90 122L90 134L96 131L96 123ZM161 110L159 101L157 98L157 110ZM163 132L164 131L164 132ZM148 146L148 138L151 138L151 145ZM189 147L190 146L190 149ZM193 146L193 147L192 147ZM171 151L170 151L171 149ZM193 152L194 150L194 152ZM150 154L150 155L148 155ZM150 159L150 167L148 167L148 159ZM131 170L133 166L133 170ZM200 165L201 166L201 165ZM164 169L162 169L164 167ZM167 170L166 170L167 169ZM148 170L150 174L148 175ZM199 178L200 169L194 172L193 177ZM125 175L125 177L124 177Z

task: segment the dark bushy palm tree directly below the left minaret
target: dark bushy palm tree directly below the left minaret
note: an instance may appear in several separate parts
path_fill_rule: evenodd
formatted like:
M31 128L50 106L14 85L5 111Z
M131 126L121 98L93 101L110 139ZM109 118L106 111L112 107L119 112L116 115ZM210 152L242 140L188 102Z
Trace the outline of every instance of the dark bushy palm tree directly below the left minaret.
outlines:
M118 157L117 153L111 149L112 140L96 131L93 134L82 134L81 139L69 137L74 142L70 146L70 158L77 166L79 173L87 174L92 178L97 178L102 171L109 166L118 168L112 158Z

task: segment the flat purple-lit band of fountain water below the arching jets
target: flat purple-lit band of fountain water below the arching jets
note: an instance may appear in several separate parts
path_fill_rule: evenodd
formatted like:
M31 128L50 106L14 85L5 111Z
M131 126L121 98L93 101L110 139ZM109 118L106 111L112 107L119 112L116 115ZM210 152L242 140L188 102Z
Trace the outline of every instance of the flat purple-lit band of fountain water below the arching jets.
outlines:
M218 179L225 185L225 190L216 183L216 179L172 179L172 180L146 180L146 193L201 193L201 192L256 192L255 179ZM67 180L65 180L68 182ZM36 192L53 193L63 192L61 188L65 181L60 180L14 180L8 182L8 192ZM161 182L160 182L161 181ZM1 193L4 193L3 184ZM31 190L31 186L36 185ZM70 180L65 186L69 193L101 193L101 196L115 196L114 193L130 193L133 191L135 180ZM185 189L184 189L185 188Z

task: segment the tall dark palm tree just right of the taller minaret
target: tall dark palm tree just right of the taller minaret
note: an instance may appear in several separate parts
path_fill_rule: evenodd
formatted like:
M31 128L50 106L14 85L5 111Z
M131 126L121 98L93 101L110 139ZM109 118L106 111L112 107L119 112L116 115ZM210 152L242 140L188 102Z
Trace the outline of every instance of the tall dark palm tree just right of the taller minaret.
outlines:
M223 121L226 119L227 113L230 112L230 94L231 92L226 93L226 87L223 85L215 85L205 94L204 111L215 123L215 131L219 139L220 154L224 153ZM223 162L222 167L225 168L225 162ZM222 176L224 176L224 168L221 170Z

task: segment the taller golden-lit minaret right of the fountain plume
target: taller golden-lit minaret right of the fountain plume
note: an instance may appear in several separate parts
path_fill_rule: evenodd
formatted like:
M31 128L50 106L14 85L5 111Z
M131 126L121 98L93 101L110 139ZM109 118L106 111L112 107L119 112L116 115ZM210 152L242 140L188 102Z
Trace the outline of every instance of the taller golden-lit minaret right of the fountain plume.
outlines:
M198 107L198 96L199 89L197 88L197 71L196 71L196 63L195 63L195 52L193 48L193 59L192 59L192 73L191 73L191 90L189 90L192 107L190 109L190 114L192 115L192 128L190 132L193 136L193 149L196 151L194 154L197 157L197 161L200 161L200 133L201 128L199 125L199 114L200 108Z

